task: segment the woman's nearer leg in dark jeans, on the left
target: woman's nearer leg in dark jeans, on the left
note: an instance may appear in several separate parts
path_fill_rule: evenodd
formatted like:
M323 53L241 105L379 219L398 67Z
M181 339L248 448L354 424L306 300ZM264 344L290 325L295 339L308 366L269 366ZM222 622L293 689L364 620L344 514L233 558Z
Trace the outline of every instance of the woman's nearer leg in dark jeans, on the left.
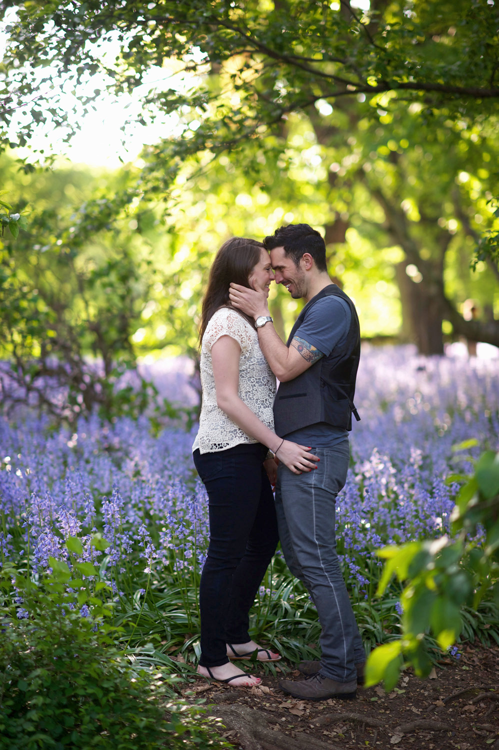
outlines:
M210 541L200 584L203 667L229 661L225 625L233 574L245 556L260 507L262 454L263 446L258 443L214 454L194 452L209 497Z

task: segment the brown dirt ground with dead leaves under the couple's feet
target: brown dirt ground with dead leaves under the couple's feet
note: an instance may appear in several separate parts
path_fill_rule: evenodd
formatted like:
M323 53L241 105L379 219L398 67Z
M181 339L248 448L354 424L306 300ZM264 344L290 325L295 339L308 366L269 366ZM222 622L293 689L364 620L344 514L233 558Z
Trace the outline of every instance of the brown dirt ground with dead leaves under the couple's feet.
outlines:
M389 694L381 685L358 688L356 700L296 700L275 677L259 676L262 684L246 690L204 679L194 685L236 748L499 750L497 646L461 646L461 657L443 659L428 679L407 670Z

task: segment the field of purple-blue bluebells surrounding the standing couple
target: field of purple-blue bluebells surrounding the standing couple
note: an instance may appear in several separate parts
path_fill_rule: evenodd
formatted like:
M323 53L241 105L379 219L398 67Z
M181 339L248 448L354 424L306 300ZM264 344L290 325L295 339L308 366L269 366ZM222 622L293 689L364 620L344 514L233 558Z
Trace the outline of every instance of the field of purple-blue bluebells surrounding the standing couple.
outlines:
M458 485L446 477L469 471L470 457L483 449L499 449L499 359L425 359L412 347L365 347L356 407L362 419L353 423L350 472L338 496L338 553L354 606L374 616L386 605L374 598L374 551L449 533ZM143 645L154 634L165 652L195 650L208 542L206 493L191 460L195 432L167 426L153 437L146 418L80 419L73 431L44 417L0 422L2 564L29 570L36 581L50 557L92 562L99 574L86 583L96 597L113 599L116 623L128 618L129 643ZM452 450L473 438L476 446ZM97 533L105 550L92 543ZM81 553L68 550L70 537ZM396 603L389 602L394 622ZM284 630L305 615L312 622L313 607L278 555L254 625L262 631L272 621L278 638L279 619ZM18 616L29 616L22 598ZM92 606L81 616L91 617Z

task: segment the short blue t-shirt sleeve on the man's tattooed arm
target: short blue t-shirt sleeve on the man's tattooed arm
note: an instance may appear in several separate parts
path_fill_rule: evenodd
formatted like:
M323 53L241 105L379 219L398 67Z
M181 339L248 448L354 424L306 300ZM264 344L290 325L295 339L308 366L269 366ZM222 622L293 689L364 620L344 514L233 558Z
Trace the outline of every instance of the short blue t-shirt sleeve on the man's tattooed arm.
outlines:
M302 338L324 356L329 356L347 337L351 320L350 306L344 299L324 297L305 314L305 320L295 332L294 338Z

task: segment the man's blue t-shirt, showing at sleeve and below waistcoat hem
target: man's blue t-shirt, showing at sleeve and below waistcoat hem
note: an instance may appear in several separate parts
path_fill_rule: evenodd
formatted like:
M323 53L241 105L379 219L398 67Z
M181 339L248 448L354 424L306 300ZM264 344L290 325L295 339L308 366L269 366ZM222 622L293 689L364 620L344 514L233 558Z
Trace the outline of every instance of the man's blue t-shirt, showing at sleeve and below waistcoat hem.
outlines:
M313 347L329 356L335 347L344 343L350 330L352 314L350 306L341 297L329 296L318 300L305 314L305 320L297 331L295 338L302 338ZM312 365L314 367L314 365ZM330 448L347 440L348 431L332 427L327 422L316 422L290 432L283 437L311 448Z

